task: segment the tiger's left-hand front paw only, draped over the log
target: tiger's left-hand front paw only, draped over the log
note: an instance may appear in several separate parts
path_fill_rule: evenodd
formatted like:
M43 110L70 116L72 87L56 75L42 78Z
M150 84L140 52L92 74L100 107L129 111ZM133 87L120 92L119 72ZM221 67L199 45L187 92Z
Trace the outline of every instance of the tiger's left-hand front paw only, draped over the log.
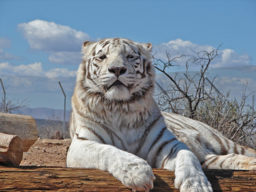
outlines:
M123 185L132 189L134 192L148 192L150 189L153 189L155 176L148 163L142 160L139 162L128 163L117 178Z

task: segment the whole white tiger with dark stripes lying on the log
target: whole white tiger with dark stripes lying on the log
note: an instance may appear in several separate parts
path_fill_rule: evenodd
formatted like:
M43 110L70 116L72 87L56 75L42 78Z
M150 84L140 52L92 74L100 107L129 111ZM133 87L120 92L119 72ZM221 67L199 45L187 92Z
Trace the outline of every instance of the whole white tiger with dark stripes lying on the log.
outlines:
M110 172L133 191L153 188L152 168L175 171L181 192L213 191L202 168L256 169L256 152L212 127L160 112L151 43L84 42L70 118L67 167Z

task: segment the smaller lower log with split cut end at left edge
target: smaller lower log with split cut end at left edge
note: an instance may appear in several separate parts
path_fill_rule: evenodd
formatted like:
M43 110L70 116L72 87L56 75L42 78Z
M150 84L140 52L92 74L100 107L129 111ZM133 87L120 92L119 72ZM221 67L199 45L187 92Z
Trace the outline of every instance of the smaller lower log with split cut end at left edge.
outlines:
M19 165L23 156L23 144L16 135L0 133L0 164Z

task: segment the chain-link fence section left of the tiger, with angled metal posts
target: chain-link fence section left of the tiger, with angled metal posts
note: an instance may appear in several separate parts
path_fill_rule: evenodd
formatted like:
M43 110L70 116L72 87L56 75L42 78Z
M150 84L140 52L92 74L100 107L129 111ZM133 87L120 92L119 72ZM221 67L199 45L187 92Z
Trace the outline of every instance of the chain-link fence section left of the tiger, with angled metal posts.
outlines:
M36 121L40 138L70 137L69 119L75 78L1 75L1 80L6 94L4 102L1 87L1 112L32 116ZM64 95L58 81L66 95L65 127Z

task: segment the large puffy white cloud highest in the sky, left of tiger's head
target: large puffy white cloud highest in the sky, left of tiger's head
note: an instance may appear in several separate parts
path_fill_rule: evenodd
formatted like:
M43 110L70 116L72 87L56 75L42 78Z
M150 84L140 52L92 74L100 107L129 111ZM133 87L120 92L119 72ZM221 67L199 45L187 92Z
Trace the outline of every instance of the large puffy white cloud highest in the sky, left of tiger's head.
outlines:
M78 65L82 43L94 41L87 33L44 20L20 23L18 29L31 49L46 51L48 60L57 64Z

